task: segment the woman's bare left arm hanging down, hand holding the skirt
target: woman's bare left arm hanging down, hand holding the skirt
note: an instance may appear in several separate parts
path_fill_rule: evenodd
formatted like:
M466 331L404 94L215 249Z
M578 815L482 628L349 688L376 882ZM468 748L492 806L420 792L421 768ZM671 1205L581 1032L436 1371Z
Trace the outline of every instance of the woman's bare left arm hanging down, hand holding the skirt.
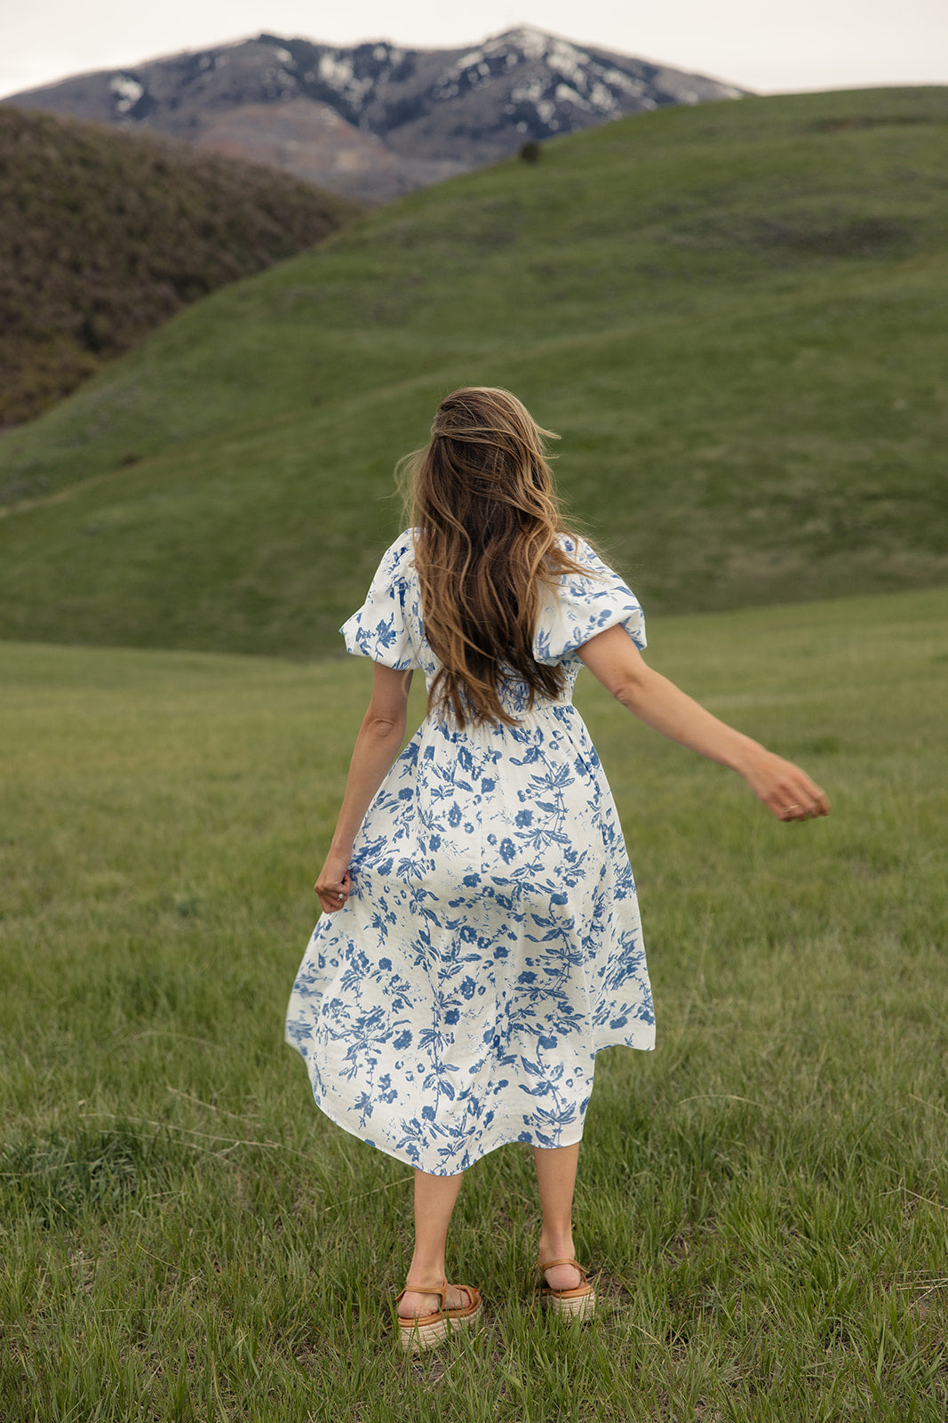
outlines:
M341 909L348 898L352 885L348 872L352 842L375 791L402 748L411 676L411 672L394 672L381 662L375 663L372 696L355 737L333 844L314 885L320 904L328 914Z

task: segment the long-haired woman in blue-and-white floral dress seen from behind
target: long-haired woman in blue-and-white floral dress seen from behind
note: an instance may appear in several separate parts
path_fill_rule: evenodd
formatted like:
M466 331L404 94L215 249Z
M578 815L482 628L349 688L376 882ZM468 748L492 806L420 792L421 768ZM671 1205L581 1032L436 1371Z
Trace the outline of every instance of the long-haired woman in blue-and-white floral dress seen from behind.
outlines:
M645 666L638 602L563 527L547 434L505 390L442 401L411 462L412 527L343 628L372 696L287 1040L324 1113L415 1167L411 1349L480 1311L446 1284L445 1242L462 1173L506 1141L534 1153L542 1299L594 1308L571 1235L594 1057L651 1049L654 1017L615 805L571 704L581 666L779 818L829 811L799 767ZM399 756L415 667L428 716Z

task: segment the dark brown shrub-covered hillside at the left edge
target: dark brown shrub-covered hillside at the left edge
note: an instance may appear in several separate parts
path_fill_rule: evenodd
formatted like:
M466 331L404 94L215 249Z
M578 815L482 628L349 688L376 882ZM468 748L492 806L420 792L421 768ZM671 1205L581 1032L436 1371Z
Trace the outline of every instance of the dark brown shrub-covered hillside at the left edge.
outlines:
M269 168L0 104L0 424L358 211Z

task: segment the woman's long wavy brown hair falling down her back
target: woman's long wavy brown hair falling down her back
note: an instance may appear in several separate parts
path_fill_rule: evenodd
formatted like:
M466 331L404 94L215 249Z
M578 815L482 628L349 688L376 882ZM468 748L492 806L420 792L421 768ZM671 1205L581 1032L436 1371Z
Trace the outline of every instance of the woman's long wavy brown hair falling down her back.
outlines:
M542 586L578 565L546 460L546 440L509 390L472 386L442 400L424 450L401 461L415 531L425 638L441 667L428 709L466 723L506 723L505 686L559 697L560 667L533 657Z

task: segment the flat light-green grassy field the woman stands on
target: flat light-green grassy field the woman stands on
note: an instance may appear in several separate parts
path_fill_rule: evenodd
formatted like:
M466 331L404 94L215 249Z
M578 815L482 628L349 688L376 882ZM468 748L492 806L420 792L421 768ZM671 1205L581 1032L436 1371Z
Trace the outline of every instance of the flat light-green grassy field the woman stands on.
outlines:
M0 650L4 1419L944 1420L948 593L651 635L833 815L772 821L581 682L659 1022L587 1117L605 1306L537 1319L510 1146L458 1210L485 1326L422 1363L384 1333L409 1173L280 1040L368 666Z

